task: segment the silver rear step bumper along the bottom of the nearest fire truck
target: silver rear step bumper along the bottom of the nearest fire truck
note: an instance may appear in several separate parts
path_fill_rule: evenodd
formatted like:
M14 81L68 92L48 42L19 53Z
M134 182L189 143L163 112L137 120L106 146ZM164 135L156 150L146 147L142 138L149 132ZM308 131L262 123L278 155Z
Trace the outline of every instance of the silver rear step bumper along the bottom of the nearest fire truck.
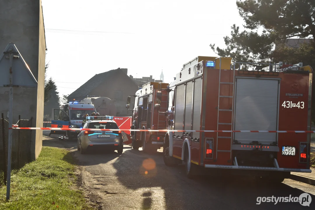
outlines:
M226 169L245 169L245 170L261 170L261 171L286 171L286 172L302 172L302 173L312 173L311 169L301 169L301 168L280 168L277 159L274 159L275 167L257 167L257 166L239 166L236 157L233 160L234 166L229 165L212 165L205 164L205 168L226 168Z

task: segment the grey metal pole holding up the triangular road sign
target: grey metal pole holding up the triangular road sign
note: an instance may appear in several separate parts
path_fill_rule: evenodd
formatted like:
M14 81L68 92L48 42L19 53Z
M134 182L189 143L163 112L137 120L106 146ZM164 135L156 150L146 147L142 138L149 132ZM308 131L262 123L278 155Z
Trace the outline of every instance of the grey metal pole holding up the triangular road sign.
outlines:
M11 152L12 152L12 110L13 110L13 87L12 87L12 63L13 49L10 53L10 92L9 92L9 139L8 139L8 171L7 171L7 201L10 200L10 183L11 183Z

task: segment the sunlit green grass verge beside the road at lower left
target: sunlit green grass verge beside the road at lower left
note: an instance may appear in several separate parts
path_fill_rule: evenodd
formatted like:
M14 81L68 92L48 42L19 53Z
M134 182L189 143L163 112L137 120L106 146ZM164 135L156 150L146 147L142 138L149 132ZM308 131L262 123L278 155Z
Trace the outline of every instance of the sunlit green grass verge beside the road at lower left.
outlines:
M91 209L74 190L74 160L69 151L43 147L36 161L12 173L10 201L0 188L0 209Z

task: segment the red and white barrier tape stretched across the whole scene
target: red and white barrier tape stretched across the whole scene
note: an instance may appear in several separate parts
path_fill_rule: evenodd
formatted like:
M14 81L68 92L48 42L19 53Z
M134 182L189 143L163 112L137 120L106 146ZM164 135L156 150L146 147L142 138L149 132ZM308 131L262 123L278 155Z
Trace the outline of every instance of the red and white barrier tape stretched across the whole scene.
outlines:
M25 130L65 130L65 131L149 131L149 132L223 132L223 133L315 133L315 131L216 131L216 130L140 130L140 129L92 129L92 128L12 128Z

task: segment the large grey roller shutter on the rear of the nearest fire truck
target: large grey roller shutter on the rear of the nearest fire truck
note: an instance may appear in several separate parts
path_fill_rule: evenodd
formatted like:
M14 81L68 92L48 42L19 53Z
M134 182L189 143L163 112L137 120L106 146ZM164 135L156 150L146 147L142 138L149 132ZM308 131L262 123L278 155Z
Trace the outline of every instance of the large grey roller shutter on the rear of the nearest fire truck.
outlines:
M234 130L277 130L278 80L236 80ZM238 143L272 144L276 133L234 133Z

